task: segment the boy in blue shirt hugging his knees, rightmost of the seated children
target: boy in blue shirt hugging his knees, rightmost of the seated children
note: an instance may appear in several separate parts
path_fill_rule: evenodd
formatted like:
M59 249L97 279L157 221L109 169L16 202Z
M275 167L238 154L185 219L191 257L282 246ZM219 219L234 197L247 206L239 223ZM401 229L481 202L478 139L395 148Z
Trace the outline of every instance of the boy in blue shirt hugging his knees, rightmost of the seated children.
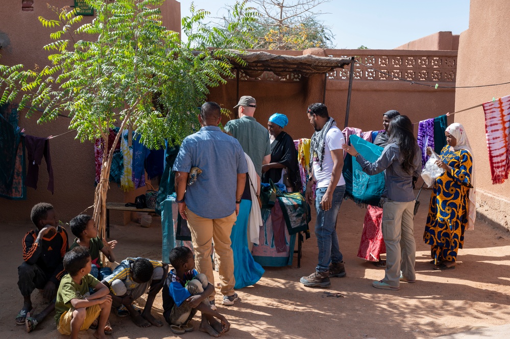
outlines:
M202 312L200 330L211 336L220 336L230 329L227 319L211 309L209 296L214 286L203 273L195 270L195 255L185 246L175 247L169 256L174 267L163 286L163 317L170 324L172 332L183 334L193 330L190 320L198 310ZM216 321L217 318L221 321Z

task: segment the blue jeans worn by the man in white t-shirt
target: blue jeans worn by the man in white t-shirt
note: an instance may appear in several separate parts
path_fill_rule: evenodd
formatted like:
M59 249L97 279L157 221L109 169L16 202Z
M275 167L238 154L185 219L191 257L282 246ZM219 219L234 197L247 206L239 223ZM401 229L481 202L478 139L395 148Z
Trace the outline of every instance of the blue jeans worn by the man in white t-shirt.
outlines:
M315 211L317 220L315 221L315 237L319 247L319 264L315 268L317 272L326 272L329 264L339 263L343 256L338 246L338 236L336 235L336 217L340 210L342 200L344 200L345 185L337 186L333 191L331 208L324 211L321 207L322 197L326 194L326 187L315 190Z

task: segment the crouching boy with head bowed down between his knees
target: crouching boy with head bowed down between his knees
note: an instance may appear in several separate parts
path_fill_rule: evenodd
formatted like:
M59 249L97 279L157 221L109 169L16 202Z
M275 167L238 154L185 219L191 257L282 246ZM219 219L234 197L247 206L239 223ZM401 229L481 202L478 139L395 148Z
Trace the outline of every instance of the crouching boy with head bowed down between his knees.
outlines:
M117 316L131 316L131 320L139 327L151 325L161 327L163 323L151 314L152 304L156 295L163 288L164 277L168 273L168 265L156 260L144 258L127 258L123 260L113 273L103 279L110 287L113 307ZM133 305L149 289L143 311Z

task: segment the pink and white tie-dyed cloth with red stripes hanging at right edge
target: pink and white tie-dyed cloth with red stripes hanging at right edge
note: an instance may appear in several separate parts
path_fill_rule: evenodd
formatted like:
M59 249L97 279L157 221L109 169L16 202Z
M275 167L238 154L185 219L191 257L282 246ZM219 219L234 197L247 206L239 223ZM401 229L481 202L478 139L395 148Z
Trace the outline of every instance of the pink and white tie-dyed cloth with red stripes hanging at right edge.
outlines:
M485 136L493 184L503 184L510 172L510 95L485 102Z

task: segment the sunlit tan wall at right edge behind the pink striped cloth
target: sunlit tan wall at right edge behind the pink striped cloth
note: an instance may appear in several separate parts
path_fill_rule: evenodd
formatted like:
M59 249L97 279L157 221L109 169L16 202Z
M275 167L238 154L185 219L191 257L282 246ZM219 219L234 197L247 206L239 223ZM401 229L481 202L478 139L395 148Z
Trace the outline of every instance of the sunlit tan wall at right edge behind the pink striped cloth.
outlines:
M460 34L457 86L508 82L510 79L510 2L471 0L469 29ZM510 94L510 85L459 88L455 110ZM483 109L455 115L466 127L473 148L478 187L478 216L510 229L510 180L492 185Z

